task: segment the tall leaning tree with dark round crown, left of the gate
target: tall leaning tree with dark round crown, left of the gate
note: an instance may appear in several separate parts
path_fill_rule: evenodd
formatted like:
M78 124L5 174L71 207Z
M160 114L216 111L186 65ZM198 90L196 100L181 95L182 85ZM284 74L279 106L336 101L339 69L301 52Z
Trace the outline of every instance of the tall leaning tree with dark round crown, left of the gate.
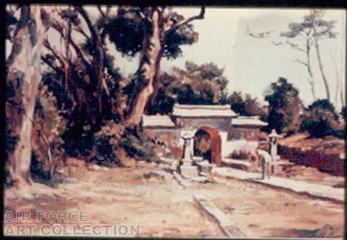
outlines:
M204 15L205 8L187 19L164 7L119 8L108 25L110 40L123 54L139 52L139 68L128 98L128 125L138 125L150 98L155 99L162 57L176 58L182 51L180 45L196 42L198 35L190 22Z

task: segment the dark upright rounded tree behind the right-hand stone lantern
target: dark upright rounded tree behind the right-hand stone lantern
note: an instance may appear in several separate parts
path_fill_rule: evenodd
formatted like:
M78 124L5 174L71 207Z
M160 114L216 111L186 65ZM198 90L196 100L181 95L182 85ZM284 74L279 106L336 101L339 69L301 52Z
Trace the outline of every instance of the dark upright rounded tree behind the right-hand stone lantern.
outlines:
M265 97L269 102L268 129L276 129L278 133L296 133L301 126L299 91L287 79L280 77L271 83L271 92Z

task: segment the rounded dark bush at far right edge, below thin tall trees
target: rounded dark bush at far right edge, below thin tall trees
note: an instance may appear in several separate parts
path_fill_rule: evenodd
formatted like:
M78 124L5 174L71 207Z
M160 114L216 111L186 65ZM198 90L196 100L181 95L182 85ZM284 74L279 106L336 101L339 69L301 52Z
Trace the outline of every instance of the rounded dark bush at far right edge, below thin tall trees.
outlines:
M308 131L312 137L344 137L344 123L339 122L335 107L328 99L319 99L307 107L303 116L301 129Z

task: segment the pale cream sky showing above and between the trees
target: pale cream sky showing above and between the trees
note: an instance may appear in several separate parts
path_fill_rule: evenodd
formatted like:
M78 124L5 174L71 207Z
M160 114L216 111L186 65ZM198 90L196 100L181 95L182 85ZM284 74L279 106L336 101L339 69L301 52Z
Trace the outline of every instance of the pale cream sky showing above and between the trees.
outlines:
M96 7L86 8L92 19L96 19ZM174 8L174 11L185 17L198 15L200 8ZM303 103L312 103L310 85L307 82L305 66L296 63L296 58L304 60L305 55L294 51L286 45L275 46L271 42L285 42L280 37L281 31L288 29L290 22L301 22L309 9L296 8L221 8L208 7L205 18L192 22L194 30L198 32L198 42L194 45L183 46L183 55L174 60L163 59L162 71L170 71L172 67L184 67L186 61L196 64L215 63L223 67L224 75L228 79L228 93L234 90L249 93L264 102L264 95L272 82L279 77L285 77L300 91ZM336 20L335 39L321 40L321 56L325 72L331 86L332 102L335 102L337 86L336 73L341 74L340 86L345 83L345 54L346 54L346 13L344 10L326 10L324 19ZM271 31L269 38L253 38L248 33ZM49 31L52 45L59 46L57 33ZM8 43L8 42L7 42ZM6 46L8 56L10 45ZM126 58L121 56L113 45L110 53L115 56L115 65L125 75L133 74L138 66L138 57ZM314 49L312 49L314 50ZM312 51L312 65L316 81L316 95L325 98L323 80L319 72L314 51ZM335 68L337 66L337 70ZM343 88L344 89L344 88ZM341 108L338 101L337 109Z

